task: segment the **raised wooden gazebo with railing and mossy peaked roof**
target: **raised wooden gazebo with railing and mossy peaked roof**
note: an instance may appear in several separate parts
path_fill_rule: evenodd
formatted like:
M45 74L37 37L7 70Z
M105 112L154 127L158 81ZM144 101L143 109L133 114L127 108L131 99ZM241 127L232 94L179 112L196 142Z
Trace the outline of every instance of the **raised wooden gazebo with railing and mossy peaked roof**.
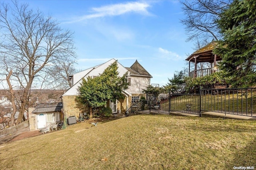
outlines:
M213 49L216 47L216 42L208 43L206 46L198 49L194 53L192 53L186 61L189 62L188 66L188 76L189 77L202 77L205 75L212 74L216 71L218 71L216 67L216 62L220 61L220 56L213 53ZM190 71L190 63L194 63L194 70ZM210 67L203 68L203 69L197 69L198 63L210 63Z

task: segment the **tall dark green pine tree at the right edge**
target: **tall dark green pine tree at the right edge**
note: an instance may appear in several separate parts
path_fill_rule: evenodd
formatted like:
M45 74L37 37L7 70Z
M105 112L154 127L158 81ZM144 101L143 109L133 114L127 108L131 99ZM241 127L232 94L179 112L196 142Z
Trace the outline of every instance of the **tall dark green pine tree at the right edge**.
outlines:
M234 87L256 84L256 1L234 0L217 21L223 40L214 53Z

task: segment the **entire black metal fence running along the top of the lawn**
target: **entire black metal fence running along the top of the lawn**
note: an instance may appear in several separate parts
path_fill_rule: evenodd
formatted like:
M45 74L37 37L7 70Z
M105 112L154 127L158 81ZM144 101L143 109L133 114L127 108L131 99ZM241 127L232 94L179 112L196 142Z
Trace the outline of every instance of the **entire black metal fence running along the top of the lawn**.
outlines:
M256 117L256 88L200 89L199 94L168 94L138 102L137 111L150 113L181 112L200 115L202 112Z

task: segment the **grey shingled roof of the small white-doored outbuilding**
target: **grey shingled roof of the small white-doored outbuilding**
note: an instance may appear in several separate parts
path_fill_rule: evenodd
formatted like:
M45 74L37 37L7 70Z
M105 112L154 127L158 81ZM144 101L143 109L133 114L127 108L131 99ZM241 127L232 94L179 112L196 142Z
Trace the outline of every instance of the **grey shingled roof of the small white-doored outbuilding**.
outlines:
M38 104L32 113L44 113L44 112L60 112L62 109L62 103L41 103Z

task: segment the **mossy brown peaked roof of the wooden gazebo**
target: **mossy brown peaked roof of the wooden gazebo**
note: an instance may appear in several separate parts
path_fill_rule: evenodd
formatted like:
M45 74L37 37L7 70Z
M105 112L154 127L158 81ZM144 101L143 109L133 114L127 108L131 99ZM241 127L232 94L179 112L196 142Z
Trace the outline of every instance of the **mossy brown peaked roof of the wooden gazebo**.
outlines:
M196 63L203 63L203 62L213 63L214 53L212 53L212 50L216 47L216 45L217 45L216 42L208 43L206 46L192 53L188 58L186 58L186 61L191 61L194 63L196 58ZM220 60L221 58L217 55L216 61L220 61Z

